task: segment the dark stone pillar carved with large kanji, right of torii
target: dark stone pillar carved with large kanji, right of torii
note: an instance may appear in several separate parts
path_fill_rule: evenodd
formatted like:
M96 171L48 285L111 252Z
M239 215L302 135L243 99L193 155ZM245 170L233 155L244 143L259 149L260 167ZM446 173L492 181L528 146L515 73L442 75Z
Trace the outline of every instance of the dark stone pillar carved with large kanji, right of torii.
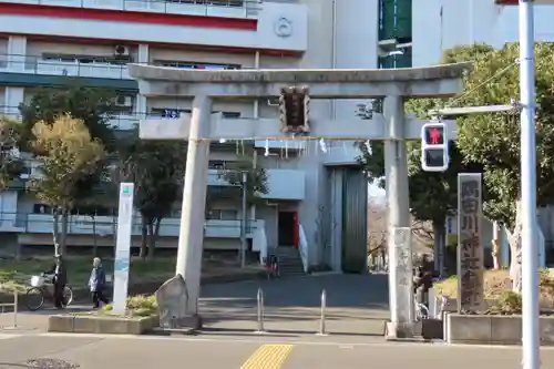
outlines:
M482 175L458 175L458 312L483 308Z

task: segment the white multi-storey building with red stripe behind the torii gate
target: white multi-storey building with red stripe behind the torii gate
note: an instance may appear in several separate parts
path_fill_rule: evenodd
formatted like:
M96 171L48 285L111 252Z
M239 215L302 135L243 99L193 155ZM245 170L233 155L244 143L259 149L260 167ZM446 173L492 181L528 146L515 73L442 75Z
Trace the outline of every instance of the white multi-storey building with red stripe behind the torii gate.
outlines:
M111 121L117 130L133 127L144 115L170 120L191 109L189 99L140 96L127 62L194 69L378 68L379 9L378 0L1 0L0 111L18 117L19 104L31 99L33 88L61 88L74 79L117 91L121 109ZM315 101L310 114L352 116L360 103ZM214 111L229 117L278 114L273 101L218 102ZM353 144L216 144L208 191L229 187L219 178L220 167L252 144L256 165L267 170L269 192L248 209L249 247L297 247L311 266L345 269L350 259L356 266L346 268L361 270L367 185ZM35 171L37 163L29 163L23 187ZM237 249L239 201L214 198L205 247ZM113 245L113 211L99 205L94 217L75 212L69 246ZM0 212L4 245L51 245L48 207L21 188L0 195ZM163 221L158 248L176 247L177 212ZM140 219L133 234L137 246ZM345 244L356 250L345 252Z

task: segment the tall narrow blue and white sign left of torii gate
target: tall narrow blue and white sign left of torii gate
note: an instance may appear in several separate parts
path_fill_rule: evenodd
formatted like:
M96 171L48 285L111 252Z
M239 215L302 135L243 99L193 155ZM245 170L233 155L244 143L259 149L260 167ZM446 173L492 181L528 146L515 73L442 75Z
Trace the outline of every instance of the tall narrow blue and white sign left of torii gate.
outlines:
M120 185L120 207L117 213L117 240L115 243L113 310L115 315L125 315L129 265L131 257L131 228L133 225L133 193L132 183Z

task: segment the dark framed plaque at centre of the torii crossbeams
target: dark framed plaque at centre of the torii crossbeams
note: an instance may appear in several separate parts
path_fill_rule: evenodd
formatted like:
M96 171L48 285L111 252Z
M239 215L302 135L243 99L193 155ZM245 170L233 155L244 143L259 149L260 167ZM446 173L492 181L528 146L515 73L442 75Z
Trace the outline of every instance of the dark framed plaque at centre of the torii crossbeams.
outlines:
M279 95L279 122L283 133L309 132L308 88L285 88Z

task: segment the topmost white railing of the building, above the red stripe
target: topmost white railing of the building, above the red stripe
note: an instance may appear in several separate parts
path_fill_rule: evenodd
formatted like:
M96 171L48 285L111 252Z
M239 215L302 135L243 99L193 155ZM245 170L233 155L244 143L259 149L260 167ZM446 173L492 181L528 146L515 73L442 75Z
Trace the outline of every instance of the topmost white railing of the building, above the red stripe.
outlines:
M0 0L41 6L144 11L168 14L255 18L261 0Z

